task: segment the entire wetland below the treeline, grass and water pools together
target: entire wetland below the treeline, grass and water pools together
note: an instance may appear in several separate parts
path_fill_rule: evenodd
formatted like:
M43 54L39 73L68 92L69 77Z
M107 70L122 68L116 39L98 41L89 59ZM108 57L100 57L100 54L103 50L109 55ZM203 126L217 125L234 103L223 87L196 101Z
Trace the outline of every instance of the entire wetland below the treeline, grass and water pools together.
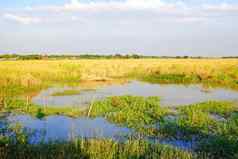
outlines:
M1 159L236 159L238 59L0 61Z

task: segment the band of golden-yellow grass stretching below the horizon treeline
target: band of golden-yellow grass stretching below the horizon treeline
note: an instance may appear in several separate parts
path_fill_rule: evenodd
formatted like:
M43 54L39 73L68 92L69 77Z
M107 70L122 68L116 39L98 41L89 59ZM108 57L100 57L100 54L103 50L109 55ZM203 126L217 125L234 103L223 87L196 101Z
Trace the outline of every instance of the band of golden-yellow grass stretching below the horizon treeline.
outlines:
M31 60L0 62L0 86L35 87L53 82L112 80L157 74L198 75L238 81L237 59Z

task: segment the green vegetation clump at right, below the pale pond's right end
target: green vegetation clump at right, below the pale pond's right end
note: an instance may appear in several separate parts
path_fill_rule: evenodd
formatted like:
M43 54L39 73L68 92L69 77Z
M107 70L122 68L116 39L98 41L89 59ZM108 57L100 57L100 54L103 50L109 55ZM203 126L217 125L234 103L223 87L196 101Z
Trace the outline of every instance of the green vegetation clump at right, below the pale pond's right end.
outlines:
M228 124L225 119L234 116L237 108L235 103L226 101L208 101L179 106L176 120L161 121L160 131L174 136L180 131L180 137L218 132L221 130L221 125ZM213 115L216 115L217 118L214 118ZM219 118L224 120L219 121Z

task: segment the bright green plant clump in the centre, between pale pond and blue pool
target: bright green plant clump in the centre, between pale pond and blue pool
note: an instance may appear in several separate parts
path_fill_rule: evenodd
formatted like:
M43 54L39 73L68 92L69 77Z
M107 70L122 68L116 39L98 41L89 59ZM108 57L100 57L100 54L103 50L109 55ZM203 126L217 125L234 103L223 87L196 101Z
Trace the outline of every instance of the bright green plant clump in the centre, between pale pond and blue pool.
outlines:
M160 106L158 97L115 96L92 105L91 116L103 116L109 121L141 129L155 124L169 111Z

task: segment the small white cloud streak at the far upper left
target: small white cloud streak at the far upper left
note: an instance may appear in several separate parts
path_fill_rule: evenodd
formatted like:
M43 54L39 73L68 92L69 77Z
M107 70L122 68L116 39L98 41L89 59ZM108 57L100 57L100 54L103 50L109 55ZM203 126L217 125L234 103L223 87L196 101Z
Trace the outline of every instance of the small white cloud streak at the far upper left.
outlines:
M14 14L6 13L3 15L4 19L15 21L21 24L36 24L40 23L42 20L38 17L30 17L30 16L18 16Z

